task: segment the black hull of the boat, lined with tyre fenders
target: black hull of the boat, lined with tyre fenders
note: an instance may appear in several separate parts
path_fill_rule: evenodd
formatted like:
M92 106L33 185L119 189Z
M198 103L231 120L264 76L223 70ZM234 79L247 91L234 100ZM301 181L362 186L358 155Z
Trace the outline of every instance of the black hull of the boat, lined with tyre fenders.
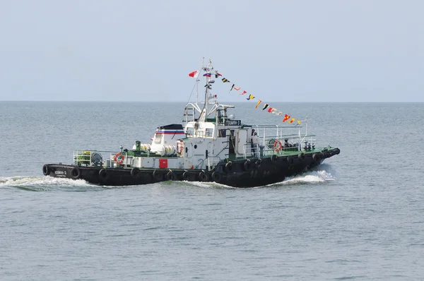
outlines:
M153 184L160 181L215 181L235 187L256 187L283 181L285 177L316 167L326 158L340 153L338 148L324 153L264 158L262 160L234 160L230 165L222 163L213 171L199 169L137 169L78 167L47 164L43 174L50 177L83 179L90 184L103 186L131 186ZM247 162L246 162L247 161Z

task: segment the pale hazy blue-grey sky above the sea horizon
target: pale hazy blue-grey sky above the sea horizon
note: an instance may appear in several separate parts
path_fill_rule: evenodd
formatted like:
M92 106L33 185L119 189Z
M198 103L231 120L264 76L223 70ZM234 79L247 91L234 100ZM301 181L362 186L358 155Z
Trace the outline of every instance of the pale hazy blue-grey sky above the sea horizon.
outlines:
M261 100L424 102L423 11L418 0L3 0L0 100L185 102L204 56ZM244 100L216 84L221 101Z

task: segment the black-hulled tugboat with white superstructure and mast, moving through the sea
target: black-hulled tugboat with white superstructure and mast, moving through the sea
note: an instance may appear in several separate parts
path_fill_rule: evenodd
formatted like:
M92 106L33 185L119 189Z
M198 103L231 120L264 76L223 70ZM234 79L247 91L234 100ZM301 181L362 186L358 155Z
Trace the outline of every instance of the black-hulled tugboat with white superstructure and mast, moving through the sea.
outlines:
M136 140L130 150L74 150L71 165L45 164L43 174L102 186L214 181L255 187L283 181L340 153L315 145L307 124L304 133L299 124L243 124L230 114L233 105L220 104L211 94L213 76L220 76L211 61L201 71L206 73L204 102L189 102L182 124L159 126L151 143Z

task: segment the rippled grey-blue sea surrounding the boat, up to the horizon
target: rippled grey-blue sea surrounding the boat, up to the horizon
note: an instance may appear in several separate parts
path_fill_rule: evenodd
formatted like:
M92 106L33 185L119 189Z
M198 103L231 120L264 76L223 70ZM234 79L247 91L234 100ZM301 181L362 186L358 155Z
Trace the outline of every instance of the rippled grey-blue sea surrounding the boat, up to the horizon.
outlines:
M254 104L246 124L280 124ZM91 186L74 149L149 143L182 103L0 102L0 280L424 280L424 104L274 103L341 149L278 184Z

